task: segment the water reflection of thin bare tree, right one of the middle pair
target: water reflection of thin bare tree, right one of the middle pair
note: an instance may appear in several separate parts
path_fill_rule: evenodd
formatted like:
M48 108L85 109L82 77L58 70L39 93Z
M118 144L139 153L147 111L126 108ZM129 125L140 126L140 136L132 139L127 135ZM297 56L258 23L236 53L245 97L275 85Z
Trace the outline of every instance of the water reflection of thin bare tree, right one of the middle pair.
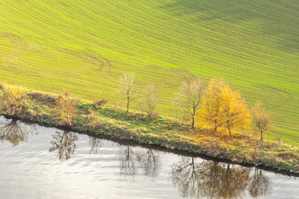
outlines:
M144 169L145 175L155 177L158 175L158 157L155 157L153 150L148 149L145 154L141 156L141 165Z

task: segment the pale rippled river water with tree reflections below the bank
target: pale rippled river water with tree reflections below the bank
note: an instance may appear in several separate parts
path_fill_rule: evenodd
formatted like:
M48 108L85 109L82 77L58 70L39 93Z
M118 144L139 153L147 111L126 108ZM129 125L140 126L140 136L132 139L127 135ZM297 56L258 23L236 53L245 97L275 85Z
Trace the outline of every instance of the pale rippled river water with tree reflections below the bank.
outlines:
M0 198L296 198L299 179L0 116Z

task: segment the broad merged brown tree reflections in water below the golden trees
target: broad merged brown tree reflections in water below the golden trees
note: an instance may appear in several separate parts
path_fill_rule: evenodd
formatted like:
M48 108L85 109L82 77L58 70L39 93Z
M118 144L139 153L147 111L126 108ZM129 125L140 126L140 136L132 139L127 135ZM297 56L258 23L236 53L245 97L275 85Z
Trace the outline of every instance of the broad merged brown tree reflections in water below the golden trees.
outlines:
M253 197L270 194L269 179L263 178L261 172L258 175L255 172L251 177L251 169L216 161L196 163L194 158L182 157L173 165L170 179L181 197L242 198L246 189ZM262 187L250 186L251 182L259 179L263 179Z

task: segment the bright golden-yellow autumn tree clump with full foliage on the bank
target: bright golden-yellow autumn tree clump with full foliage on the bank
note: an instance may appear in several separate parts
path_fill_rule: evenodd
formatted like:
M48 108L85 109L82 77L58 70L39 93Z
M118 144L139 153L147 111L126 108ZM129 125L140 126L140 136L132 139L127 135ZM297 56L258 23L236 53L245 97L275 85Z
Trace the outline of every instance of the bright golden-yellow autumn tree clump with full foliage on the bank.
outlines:
M202 96L202 106L196 116L198 125L226 127L231 135L232 128L250 128L250 110L241 99L239 91L232 91L228 84L212 78Z

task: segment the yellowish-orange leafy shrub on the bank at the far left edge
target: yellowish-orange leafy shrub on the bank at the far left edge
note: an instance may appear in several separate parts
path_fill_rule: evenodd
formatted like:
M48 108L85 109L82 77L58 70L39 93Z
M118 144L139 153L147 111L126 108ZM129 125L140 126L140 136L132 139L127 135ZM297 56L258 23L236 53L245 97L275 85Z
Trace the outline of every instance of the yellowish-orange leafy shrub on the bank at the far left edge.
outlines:
M4 99L1 110L7 115L18 115L22 108L25 107L28 96L26 90L22 87L5 87Z

